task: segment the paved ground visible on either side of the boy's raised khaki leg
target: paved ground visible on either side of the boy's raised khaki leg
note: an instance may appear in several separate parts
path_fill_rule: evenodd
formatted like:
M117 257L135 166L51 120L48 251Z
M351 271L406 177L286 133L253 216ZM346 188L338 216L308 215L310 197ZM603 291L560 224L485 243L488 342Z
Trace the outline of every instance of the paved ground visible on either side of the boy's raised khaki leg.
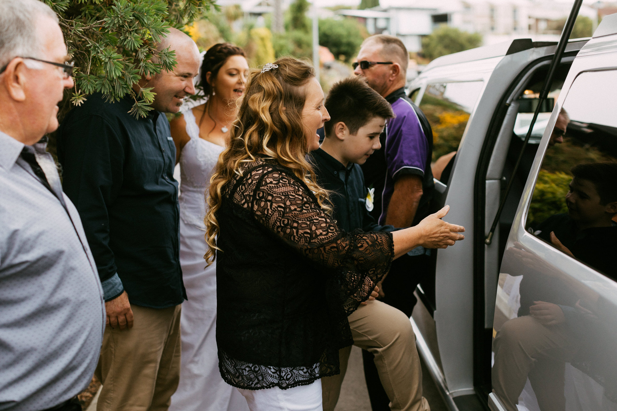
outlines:
M431 411L447 411L424 364L422 364L422 374L424 377L422 381L423 394L431 405ZM335 411L371 411L362 368L362 351L357 347L352 348L349 367L341 388L341 397L339 397Z

